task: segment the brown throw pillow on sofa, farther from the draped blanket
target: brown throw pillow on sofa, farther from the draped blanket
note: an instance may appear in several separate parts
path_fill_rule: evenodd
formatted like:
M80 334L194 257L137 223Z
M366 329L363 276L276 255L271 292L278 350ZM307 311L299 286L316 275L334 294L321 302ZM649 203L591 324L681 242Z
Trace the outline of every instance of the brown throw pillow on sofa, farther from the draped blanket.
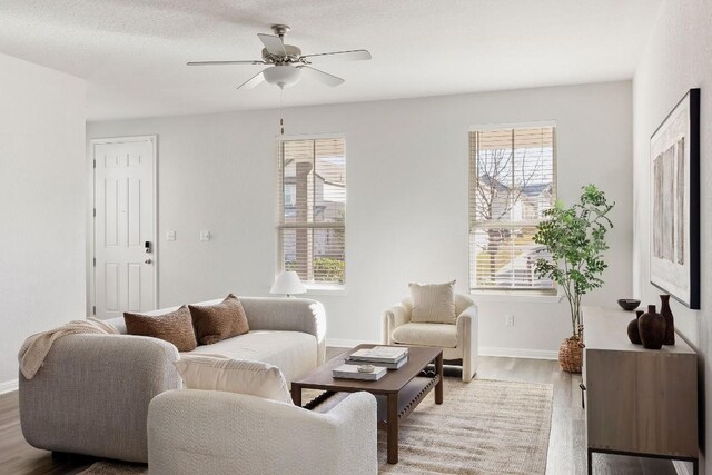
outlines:
M243 304L233 294L217 305L189 305L188 308L200 345L210 345L249 331Z

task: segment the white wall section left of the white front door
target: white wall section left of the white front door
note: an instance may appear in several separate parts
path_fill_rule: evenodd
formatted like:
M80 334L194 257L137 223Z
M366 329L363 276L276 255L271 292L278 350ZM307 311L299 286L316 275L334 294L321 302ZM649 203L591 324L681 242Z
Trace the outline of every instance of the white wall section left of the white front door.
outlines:
M0 105L2 386L27 336L86 316L85 81L0 55Z

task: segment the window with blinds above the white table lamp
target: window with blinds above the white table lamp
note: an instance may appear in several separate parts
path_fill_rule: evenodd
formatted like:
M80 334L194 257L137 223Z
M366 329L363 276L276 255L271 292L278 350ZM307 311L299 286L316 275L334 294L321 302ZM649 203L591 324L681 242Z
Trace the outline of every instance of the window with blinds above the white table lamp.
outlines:
M278 141L278 263L308 285L344 285L346 155L343 138Z

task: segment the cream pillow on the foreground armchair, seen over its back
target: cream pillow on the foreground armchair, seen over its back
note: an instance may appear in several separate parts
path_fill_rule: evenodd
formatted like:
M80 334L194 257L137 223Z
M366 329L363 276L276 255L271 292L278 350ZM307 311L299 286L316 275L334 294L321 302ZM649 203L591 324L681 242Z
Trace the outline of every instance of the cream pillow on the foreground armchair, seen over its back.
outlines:
M181 355L174 365L188 389L249 394L293 404L284 375L278 367L267 363L217 355Z

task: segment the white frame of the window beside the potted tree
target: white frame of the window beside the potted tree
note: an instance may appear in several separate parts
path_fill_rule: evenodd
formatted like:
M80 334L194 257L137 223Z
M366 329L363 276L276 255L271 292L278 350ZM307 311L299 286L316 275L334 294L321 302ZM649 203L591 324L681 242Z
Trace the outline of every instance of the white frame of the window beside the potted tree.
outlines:
M500 129L524 129L524 128L536 128L536 127L551 127L553 128L553 150L552 150L552 204L556 201L558 195L558 185L557 185L557 127L555 120L544 120L544 121L531 121L531 122L507 122L507 123L488 123L488 125L478 125L471 126L467 131L467 274L468 274L468 289L471 295L476 295L477 298L482 300L490 301L501 301L505 299L516 299L517 301L536 301L536 303L556 303L561 301L562 295L560 294L560 289L556 286L556 283L553 283L552 288L547 289L526 289L526 288L496 288L496 287L487 287L487 288L477 288L476 283L474 280L474 256L472 255L472 245L471 245L471 236L473 231L477 228L488 228L487 222L482 222L477 225L473 224L472 220L472 194L474 188L474 182L472 179L473 176L473 167L476 167L476 160L474 160L472 156L472 132L476 131L488 131L488 130L500 130ZM531 227L536 226L541 220L521 220L513 222L497 222L497 227L502 228L521 228L521 227Z

